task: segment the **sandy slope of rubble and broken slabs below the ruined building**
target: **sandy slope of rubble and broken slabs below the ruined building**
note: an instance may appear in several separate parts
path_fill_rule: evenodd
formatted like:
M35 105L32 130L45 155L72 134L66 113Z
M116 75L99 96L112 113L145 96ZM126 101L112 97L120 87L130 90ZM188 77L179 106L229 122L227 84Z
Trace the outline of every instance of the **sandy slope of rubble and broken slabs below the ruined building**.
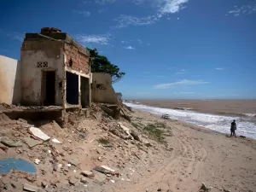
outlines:
M118 108L131 118L129 108ZM72 128L62 129L55 121L0 113L0 191L112 191L141 177L158 153L154 141L100 104L92 105L89 118L68 120Z

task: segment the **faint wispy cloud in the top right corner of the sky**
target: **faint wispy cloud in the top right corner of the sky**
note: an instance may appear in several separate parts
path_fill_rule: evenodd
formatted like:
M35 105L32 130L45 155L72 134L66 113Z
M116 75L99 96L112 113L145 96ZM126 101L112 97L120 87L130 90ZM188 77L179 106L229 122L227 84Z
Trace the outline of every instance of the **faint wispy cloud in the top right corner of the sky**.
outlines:
M253 1L251 4L244 4L238 7L237 5L230 11L228 11L227 15L251 15L256 13L256 1Z

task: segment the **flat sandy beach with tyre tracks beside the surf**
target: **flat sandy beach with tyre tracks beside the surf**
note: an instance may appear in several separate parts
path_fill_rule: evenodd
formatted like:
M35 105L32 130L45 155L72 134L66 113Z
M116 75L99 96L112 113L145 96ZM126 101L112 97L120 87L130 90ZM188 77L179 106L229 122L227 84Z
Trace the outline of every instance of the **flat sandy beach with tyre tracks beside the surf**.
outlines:
M167 143L173 150L160 154L150 166L151 172L124 191L155 191L160 186L171 191L194 192L201 183L211 186L211 191L256 191L255 140L226 137L149 113L136 111L133 115L166 123L172 135L167 137Z

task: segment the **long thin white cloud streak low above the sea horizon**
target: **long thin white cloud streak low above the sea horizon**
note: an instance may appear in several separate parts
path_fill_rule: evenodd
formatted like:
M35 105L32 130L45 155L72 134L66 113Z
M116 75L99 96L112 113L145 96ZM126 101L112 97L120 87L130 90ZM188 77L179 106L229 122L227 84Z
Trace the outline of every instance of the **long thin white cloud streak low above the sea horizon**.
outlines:
M169 83L169 84L156 84L154 85L154 89L170 89L176 85L195 85L195 84L208 84L204 80L187 80L183 79L177 82Z

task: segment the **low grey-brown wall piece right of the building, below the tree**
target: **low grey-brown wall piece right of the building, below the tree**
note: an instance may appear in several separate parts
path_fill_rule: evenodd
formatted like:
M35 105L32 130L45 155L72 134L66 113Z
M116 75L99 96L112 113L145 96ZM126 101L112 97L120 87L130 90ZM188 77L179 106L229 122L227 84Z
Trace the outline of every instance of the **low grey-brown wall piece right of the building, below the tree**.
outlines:
M91 101L102 103L118 102L118 98L112 87L110 74L92 73Z

